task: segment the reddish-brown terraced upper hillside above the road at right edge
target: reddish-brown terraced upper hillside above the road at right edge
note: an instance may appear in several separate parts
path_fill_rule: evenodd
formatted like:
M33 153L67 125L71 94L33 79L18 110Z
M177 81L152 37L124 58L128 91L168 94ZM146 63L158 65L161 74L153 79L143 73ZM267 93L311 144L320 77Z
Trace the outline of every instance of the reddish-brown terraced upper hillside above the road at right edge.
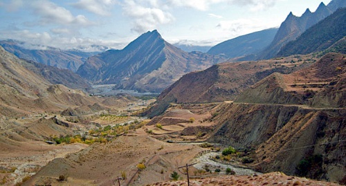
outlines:
M329 53L316 64L303 68L289 75L275 73L266 77L244 91L235 102L251 102L260 104L309 104L316 93L325 90L328 84L337 84L340 77L346 74L345 55ZM333 82L333 83L331 83ZM341 81L342 82L342 81ZM345 98L333 97L336 102ZM328 107L344 107L344 104L324 105Z

